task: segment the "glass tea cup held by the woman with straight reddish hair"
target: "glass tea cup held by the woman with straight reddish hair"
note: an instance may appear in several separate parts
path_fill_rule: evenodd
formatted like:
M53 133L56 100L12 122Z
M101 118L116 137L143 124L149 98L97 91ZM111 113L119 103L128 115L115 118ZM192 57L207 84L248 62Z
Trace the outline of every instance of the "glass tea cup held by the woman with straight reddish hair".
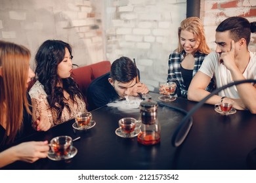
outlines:
M60 158L70 154L72 145L72 138L69 136L54 137L50 142L51 150Z

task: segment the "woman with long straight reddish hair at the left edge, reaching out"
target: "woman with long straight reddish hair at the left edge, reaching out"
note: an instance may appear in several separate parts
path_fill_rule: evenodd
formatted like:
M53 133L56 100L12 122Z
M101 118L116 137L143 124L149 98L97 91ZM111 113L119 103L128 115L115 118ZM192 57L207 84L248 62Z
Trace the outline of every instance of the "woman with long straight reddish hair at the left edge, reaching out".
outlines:
M47 141L12 146L20 137L32 133L32 112L26 90L33 76L30 51L24 46L0 41L0 149L3 150L0 167L18 160L32 163L47 157Z

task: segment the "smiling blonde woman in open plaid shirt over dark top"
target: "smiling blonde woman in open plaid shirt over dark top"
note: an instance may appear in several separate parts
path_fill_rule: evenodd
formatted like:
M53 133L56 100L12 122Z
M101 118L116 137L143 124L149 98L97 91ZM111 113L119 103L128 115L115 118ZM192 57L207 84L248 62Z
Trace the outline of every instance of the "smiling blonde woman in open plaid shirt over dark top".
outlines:
M176 82L177 95L187 98L188 86L201 67L203 59L209 54L210 49L205 41L200 18L190 17L183 20L178 29L178 35L179 46L169 56L167 82ZM212 80L205 90L211 92L214 86ZM162 91L160 88L160 93Z

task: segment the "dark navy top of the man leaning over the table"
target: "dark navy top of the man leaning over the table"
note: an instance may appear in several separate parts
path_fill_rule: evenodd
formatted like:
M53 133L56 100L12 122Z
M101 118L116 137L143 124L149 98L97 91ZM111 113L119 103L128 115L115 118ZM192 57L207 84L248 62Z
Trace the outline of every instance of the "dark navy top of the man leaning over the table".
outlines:
M89 85L87 90L88 110L102 107L119 98L116 90L108 82L108 78L110 78L110 73L96 78Z

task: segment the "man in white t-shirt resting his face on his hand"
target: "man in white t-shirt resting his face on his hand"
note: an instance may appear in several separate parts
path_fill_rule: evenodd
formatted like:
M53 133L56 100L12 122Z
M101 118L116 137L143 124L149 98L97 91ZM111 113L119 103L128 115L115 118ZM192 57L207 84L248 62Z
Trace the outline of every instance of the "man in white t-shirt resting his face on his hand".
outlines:
M203 61L198 73L188 88L188 99L200 101L209 92L204 89L215 76L217 88L230 82L256 79L256 52L248 50L251 32L256 31L256 22L233 16L227 18L216 29L217 48ZM221 100L232 99L234 108L250 110L256 114L256 84L245 83L226 88L213 95L206 103L215 105Z

